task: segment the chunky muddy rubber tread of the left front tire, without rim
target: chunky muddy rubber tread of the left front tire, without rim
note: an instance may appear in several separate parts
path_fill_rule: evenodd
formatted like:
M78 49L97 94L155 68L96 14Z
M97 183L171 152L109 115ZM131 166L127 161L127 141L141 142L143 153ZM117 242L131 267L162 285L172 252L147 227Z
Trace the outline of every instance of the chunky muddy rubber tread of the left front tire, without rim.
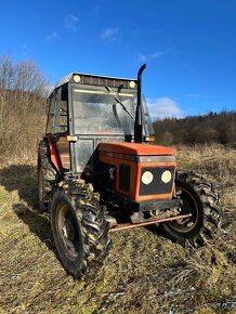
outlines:
M60 183L60 194L64 194L75 209L80 225L82 241L81 264L75 267L66 266L60 254L62 264L74 278L81 277L90 269L103 264L112 245L109 225L104 217L105 208L100 205L97 193L91 191L90 184L82 180L64 181ZM58 247L57 247L58 250Z

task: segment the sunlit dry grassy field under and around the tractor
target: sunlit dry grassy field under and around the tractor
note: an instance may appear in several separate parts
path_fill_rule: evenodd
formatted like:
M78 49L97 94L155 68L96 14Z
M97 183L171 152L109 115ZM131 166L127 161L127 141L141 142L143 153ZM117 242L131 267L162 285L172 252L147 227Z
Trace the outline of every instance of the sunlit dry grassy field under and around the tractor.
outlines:
M74 280L61 266L47 214L37 205L37 171L0 169L0 313L236 313L236 152L220 145L176 147L221 193L222 225L196 250L154 228L113 235L105 265Z

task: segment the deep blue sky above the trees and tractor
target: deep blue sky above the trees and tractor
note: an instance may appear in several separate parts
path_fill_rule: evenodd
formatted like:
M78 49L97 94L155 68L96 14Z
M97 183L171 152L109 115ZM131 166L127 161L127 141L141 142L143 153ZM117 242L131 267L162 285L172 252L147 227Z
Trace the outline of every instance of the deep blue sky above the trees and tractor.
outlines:
M0 56L135 78L153 118L236 109L235 0L0 0Z

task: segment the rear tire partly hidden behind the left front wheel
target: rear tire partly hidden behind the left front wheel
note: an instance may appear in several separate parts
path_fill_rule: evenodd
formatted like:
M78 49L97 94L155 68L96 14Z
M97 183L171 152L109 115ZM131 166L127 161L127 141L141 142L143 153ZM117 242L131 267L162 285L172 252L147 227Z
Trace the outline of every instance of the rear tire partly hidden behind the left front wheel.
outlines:
M55 181L56 171L50 162L49 144L45 141L41 141L38 151L38 193L41 212L49 211L51 193Z

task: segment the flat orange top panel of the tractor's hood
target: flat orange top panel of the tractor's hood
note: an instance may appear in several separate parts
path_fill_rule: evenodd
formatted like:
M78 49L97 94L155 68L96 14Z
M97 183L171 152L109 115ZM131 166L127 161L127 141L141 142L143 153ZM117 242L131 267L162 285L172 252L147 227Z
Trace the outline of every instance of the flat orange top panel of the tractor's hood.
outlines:
M109 142L99 144L100 153L122 154L131 156L168 156L175 155L173 148L137 143Z

